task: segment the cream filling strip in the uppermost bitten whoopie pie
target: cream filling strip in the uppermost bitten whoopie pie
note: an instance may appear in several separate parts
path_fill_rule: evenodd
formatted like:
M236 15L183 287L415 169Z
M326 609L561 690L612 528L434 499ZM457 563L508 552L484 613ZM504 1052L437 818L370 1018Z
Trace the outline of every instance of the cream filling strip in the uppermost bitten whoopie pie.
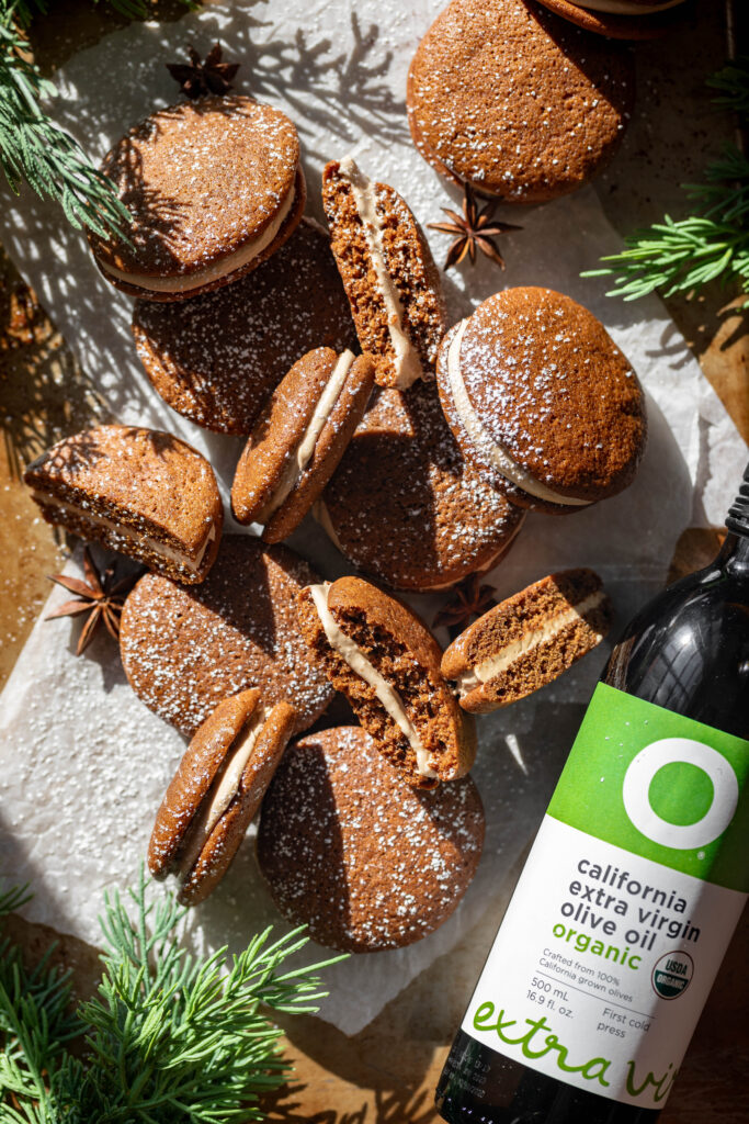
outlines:
M403 330L403 305L385 262L382 220L377 215L374 184L357 167L351 156L345 156L341 160L338 171L341 178L350 184L354 202L362 219L364 236L367 241L372 259L372 266L375 271L380 293L385 305L390 342L395 352L395 386L399 390L405 390L417 379L423 378L424 372L419 359L419 352Z

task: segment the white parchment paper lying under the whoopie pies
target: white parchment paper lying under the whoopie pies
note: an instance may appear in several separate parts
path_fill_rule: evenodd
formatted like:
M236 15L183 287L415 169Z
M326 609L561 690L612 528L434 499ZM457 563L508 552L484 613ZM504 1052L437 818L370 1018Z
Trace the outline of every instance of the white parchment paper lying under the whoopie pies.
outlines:
M411 55L441 7L442 0L285 0L216 7L166 26L135 25L66 64L57 75L65 101L55 114L98 158L134 121L176 100L165 62L183 54L186 43L204 54L220 38L230 57L243 60L238 89L284 108L296 123L308 211L322 217L322 164L353 152L365 172L404 194L423 224L435 221L457 197L413 149L403 98ZM568 518L531 516L488 580L505 596L554 568L593 565L621 626L663 584L678 534L692 523L722 522L746 447L660 302L623 305L605 298L603 282L579 279L618 245L592 189L508 217L523 229L504 238L506 273L488 263L465 274L451 271L445 282L451 315L505 285L545 284L581 300L646 386L650 436L625 493ZM446 239L429 235L441 261ZM241 442L200 430L150 390L129 335L130 301L100 278L84 238L30 192L8 194L0 236L112 415L197 445L226 496ZM327 577L346 571L311 520L292 543ZM70 569L77 569L75 560ZM47 611L65 596L54 592ZM427 619L439 604L435 597L413 600ZM68 620L38 622L0 697L0 869L33 883L28 917L95 944L102 891L135 876L184 744L133 695L106 636L80 660L72 658L74 641ZM557 683L481 719L474 777L487 835L474 883L457 913L419 944L329 970L325 1018L356 1033L485 910L499 921L508 871L536 831L608 651L602 645ZM192 915L190 940L197 948L228 943L238 950L271 923L285 927L250 839L219 890ZM323 955L311 946L307 959Z

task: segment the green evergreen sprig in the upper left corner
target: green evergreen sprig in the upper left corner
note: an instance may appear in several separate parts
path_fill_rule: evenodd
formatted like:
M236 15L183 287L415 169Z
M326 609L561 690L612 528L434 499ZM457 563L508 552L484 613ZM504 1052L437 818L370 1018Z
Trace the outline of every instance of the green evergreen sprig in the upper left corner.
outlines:
M150 9L148 0L104 2L131 19L144 18ZM184 2L194 7L192 0ZM13 191L26 181L38 196L58 202L74 227L121 233L128 211L115 184L43 107L57 91L28 58L20 29L47 7L48 0L0 0L0 166Z

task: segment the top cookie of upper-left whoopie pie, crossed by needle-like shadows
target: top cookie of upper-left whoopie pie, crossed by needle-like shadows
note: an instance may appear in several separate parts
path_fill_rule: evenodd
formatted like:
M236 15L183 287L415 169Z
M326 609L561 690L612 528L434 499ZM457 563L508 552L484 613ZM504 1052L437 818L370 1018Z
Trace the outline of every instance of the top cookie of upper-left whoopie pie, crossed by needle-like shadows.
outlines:
M270 106L225 97L162 109L103 161L134 216L133 245L97 239L98 250L128 272L192 273L271 223L298 161L293 125Z

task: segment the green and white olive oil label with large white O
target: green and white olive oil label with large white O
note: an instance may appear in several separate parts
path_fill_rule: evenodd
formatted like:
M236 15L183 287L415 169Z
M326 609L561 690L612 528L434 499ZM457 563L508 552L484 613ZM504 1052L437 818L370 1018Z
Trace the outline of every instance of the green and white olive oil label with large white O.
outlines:
M748 781L748 741L600 683L466 1034L663 1108L749 889Z

